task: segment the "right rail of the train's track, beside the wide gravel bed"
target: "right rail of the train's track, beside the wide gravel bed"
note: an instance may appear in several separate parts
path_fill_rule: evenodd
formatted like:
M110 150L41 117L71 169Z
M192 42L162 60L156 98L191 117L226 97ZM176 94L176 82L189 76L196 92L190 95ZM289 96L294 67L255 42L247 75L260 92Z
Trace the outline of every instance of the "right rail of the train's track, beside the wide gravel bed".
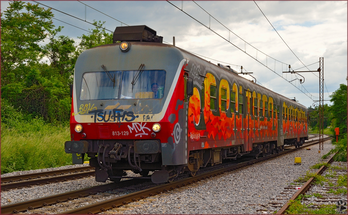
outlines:
M314 145L314 144L318 144L318 143L319 142L308 144L308 145ZM147 196L153 196L153 195L159 194L160 192L167 192L168 190L180 188L181 186L195 183L196 181L204 180L205 178L209 178L209 177L217 176L220 174L228 173L228 172L231 172L235 169L242 168L242 167L245 167L248 165L252 165L256 162L260 162L263 160L274 158L274 157L283 155L285 153L293 152L295 150L303 149L303 148L307 147L308 145L300 146L299 148L295 148L295 149L289 149L289 150L286 150L283 152L279 152L278 154L273 154L273 155L266 156L263 158L258 158L258 159L252 160L252 161L245 161L245 162L242 162L240 164L232 165L232 166L221 168L218 170L213 170L212 172L203 173L203 174L200 174L200 175L197 175L194 177L184 178L182 180L178 180L178 181L175 181L175 182L170 183L170 184L162 184L159 186L155 186L153 188L149 188L149 189L145 189L142 191L130 193L130 194L127 194L124 196L96 202L94 204L75 208L72 210L66 210L66 211L58 213L58 214L96 214L96 213L101 213L101 212L104 212L106 210L116 208L116 207L128 204L130 202L133 202L133 201L137 201L139 199L144 199Z

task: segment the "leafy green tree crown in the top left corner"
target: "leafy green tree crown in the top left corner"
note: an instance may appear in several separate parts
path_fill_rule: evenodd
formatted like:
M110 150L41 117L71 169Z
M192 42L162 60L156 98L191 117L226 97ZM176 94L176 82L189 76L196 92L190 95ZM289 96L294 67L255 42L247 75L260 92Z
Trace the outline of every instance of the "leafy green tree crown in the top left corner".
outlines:
M23 71L41 57L39 42L53 29L51 9L22 1L9 3L1 13L2 85L23 78Z

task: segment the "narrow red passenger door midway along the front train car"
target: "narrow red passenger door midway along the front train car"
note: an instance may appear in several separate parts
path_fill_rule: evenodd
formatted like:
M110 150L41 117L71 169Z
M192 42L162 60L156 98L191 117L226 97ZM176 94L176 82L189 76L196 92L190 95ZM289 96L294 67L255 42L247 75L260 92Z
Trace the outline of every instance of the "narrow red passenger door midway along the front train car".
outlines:
M251 151L253 149L252 143L252 120L251 115L252 111L252 92L245 89L245 151Z

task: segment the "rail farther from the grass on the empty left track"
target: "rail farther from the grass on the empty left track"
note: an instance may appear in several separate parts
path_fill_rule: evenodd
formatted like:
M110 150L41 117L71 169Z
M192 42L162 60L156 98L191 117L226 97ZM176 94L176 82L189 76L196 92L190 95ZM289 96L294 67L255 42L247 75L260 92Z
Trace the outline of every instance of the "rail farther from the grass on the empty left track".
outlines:
M95 174L95 170L92 170L92 171L72 173L67 175L58 175L58 176L53 176L48 178L36 178L36 179L26 180L26 181L4 183L4 184L1 184L1 191L8 191L11 189L16 189L16 188L30 187L32 185L41 185L41 184L49 184L49 183L55 183L55 182L63 182L68 180L75 180L77 178L93 176L94 174Z

